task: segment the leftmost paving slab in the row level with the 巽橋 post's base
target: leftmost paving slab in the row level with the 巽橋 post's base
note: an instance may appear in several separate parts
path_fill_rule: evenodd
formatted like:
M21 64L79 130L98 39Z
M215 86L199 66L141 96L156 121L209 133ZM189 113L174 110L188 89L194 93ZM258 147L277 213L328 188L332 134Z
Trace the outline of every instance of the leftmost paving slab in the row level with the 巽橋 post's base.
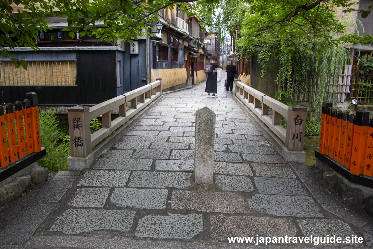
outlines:
M150 170L152 159L101 158L94 169Z

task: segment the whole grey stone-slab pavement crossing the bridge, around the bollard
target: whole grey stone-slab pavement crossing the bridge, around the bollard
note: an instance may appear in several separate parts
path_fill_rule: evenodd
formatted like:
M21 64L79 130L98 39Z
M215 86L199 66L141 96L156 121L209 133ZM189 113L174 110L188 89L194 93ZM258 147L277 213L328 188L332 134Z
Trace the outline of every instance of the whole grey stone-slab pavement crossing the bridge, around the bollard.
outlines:
M372 219L285 162L224 80L216 99L204 83L166 94L92 169L59 172L3 226L0 248L266 248L227 238L257 235L357 235L364 244L327 246L372 246ZM194 114L205 106L217 115L214 185L193 181Z

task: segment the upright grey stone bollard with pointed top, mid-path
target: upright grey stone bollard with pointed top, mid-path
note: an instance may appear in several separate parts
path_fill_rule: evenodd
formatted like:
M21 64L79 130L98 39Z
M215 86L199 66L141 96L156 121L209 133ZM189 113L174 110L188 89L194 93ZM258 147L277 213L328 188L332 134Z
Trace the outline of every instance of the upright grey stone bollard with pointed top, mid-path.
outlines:
M207 107L195 112L194 182L214 182L215 113Z

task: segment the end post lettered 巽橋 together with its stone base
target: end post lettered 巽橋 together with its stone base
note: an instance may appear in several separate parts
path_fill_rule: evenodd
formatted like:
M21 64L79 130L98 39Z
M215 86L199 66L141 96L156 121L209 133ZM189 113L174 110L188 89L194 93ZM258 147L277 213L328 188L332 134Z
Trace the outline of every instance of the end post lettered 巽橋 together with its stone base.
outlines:
M86 169L94 160L91 147L90 108L76 105L68 109L70 152L68 169Z

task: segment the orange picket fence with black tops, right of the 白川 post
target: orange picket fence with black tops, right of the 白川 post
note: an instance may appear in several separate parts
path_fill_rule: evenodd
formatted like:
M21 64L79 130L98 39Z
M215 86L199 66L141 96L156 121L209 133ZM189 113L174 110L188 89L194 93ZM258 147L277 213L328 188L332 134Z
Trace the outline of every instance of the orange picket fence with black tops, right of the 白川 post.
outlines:
M350 169L354 175L373 176L373 119L369 111L355 114L322 106L319 153Z

